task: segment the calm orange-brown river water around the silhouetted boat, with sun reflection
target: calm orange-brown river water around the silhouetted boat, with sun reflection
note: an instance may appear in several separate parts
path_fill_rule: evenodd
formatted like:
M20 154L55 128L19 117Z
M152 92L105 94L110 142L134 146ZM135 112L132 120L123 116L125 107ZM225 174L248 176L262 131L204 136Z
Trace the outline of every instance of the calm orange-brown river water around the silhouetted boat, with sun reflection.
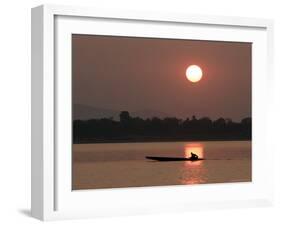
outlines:
M203 161L157 162L145 156ZM73 189L251 181L251 141L73 145Z

